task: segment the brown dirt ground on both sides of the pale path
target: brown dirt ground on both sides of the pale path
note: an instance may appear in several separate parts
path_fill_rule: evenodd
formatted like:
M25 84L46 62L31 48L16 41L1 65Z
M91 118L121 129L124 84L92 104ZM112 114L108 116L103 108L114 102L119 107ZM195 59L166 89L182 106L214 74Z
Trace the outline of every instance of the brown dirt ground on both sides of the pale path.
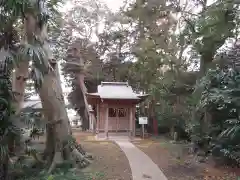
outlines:
M96 141L91 133L73 131L73 135L83 148L94 156L92 164L83 169L83 172L92 174L94 180L132 179L129 162L116 144ZM159 166L168 180L240 179L240 169L215 167L210 162L200 163L197 156L188 154L188 145L171 143L162 137L132 143Z

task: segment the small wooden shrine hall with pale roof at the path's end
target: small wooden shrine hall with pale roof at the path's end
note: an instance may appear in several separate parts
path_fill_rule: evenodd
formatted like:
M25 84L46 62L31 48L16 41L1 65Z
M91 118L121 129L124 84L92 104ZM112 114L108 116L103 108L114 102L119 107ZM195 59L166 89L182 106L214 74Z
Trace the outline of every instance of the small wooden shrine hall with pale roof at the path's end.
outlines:
M127 82L102 82L98 92L87 93L88 103L96 107L96 122L92 130L96 133L127 132L135 136L136 104L148 95L139 95Z

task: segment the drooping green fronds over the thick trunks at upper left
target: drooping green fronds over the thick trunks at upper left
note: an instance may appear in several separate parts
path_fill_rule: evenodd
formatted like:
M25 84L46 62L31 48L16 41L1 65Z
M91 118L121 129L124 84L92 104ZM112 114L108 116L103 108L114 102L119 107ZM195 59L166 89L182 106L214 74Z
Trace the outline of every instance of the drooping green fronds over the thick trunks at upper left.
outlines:
M34 1L34 0L4 0L1 2L1 19L6 23L0 27L0 36L2 43L0 47L9 47L9 54L14 60L15 65L22 60L32 61L32 79L35 81L36 88L39 88L42 84L43 76L49 72L50 65L48 64L48 52L43 48L42 37L33 34L33 38L28 38L27 43L21 43L19 41L21 37L21 31L23 27L20 24L20 20L26 17L26 14L31 13L36 17L37 26L39 29L43 28L43 25L50 22L56 24L54 21L56 16L59 16L57 11L58 5L61 0L47 0L47 1ZM23 21L22 21L23 22ZM34 25L35 26L35 25ZM26 27L25 27L26 28ZM31 27L28 27L31 28ZM45 40L45 39L44 39ZM46 42L45 42L46 43ZM16 66L15 66L16 67Z

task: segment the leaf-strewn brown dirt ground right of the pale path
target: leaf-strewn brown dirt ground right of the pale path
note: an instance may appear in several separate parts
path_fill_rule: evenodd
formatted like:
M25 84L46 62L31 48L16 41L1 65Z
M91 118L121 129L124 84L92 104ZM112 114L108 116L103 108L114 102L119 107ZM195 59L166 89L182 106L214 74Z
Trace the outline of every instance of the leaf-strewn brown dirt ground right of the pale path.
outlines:
M197 156L188 154L188 146L160 139L133 142L146 153L166 175L168 180L237 180L239 169L216 168L200 163Z

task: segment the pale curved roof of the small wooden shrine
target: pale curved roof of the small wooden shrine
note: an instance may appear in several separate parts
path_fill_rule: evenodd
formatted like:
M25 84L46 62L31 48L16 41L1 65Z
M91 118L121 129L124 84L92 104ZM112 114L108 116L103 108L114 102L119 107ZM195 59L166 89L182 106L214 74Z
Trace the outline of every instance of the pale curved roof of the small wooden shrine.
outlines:
M98 92L88 93L91 97L101 99L136 99L140 100L148 95L139 95L133 92L127 82L102 82L98 85Z

